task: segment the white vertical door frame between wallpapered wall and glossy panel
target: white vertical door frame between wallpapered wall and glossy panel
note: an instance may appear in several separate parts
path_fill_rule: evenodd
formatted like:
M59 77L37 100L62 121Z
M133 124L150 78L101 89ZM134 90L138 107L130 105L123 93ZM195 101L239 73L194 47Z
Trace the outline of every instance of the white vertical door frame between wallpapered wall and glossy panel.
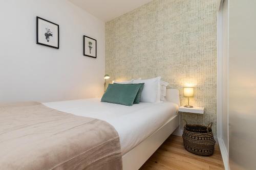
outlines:
M224 1L225 3L229 3L229 0L221 0L219 11L217 15L217 137L218 142L221 150L221 155L223 158L223 163L225 166L225 169L229 169L229 163L228 163L228 141L227 145L225 145L225 142L223 140L223 110L226 107L227 111L227 140L228 140L228 88L225 88L225 85L228 87L228 62L224 60L228 60L228 32L225 32L225 29L228 29L228 23L224 23L224 21L228 22L228 16L227 18L224 18ZM227 4L228 6L228 4ZM228 8L228 7L227 7ZM226 28L227 27L227 28ZM225 32L225 33L224 33ZM227 35L226 35L227 34ZM224 44L224 38L226 37ZM227 51L227 54L224 53L224 48ZM227 56L226 56L227 55ZM227 62L227 63L225 63ZM224 70L225 69L225 70ZM226 74L226 77L224 77L224 74ZM227 79L227 80L224 80ZM225 81L225 82L224 82ZM226 83L226 84L225 84ZM225 89L224 89L225 88ZM224 94L226 93L226 94ZM223 98L227 99L223 99ZM224 106L223 104L227 105Z

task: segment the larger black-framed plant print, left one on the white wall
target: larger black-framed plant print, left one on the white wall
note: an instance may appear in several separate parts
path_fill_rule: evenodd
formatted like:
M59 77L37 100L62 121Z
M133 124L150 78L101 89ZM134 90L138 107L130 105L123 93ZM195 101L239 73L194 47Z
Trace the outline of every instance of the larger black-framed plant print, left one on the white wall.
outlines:
M59 25L37 16L36 43L59 49Z

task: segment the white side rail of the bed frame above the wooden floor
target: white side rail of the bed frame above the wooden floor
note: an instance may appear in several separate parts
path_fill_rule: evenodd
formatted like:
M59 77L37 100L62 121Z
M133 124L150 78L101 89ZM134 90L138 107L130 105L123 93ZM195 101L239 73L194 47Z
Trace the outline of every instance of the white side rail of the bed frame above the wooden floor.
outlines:
M123 170L139 169L173 132L176 135L181 134L180 114L169 119L158 131L124 154L122 156Z

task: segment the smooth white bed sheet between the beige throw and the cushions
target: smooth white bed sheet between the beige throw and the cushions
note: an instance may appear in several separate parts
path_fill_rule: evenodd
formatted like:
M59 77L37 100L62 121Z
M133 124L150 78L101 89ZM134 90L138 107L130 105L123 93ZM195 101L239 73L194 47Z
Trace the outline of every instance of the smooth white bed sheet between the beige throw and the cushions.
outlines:
M111 124L119 134L124 155L176 115L178 105L170 102L124 106L82 99L43 103L47 107L78 116L93 117Z

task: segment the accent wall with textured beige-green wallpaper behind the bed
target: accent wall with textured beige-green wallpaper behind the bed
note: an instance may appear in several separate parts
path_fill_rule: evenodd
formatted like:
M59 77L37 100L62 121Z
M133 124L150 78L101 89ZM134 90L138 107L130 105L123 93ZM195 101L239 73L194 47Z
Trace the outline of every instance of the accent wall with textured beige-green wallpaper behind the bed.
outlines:
M191 124L213 122L217 136L217 2L155 0L105 25L105 73L111 80L162 76L170 88L195 86L191 105L205 114L182 113Z

